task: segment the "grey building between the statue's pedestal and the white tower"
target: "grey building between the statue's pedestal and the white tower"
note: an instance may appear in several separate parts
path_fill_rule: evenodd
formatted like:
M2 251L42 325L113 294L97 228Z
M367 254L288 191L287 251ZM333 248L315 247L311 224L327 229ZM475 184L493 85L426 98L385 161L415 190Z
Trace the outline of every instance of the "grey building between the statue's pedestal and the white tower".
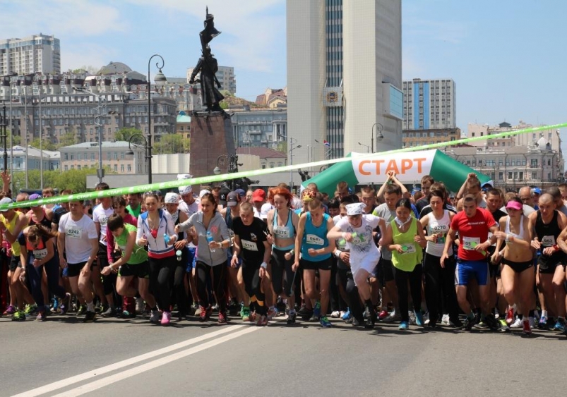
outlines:
M232 134L236 147L267 147L286 152L287 111L234 111L231 117Z

